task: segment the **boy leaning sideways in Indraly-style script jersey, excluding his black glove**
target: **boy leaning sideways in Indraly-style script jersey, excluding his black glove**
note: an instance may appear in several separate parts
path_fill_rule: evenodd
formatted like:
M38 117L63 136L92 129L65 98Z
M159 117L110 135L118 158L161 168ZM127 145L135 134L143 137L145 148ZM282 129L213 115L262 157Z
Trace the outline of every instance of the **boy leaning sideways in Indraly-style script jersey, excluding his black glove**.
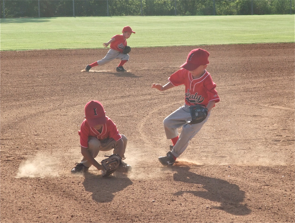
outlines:
M168 115L164 121L164 130L167 139L171 139L172 144L166 156L159 157L162 165L173 165L176 158L184 152L189 145L189 141L200 131L204 123L210 116L210 110L219 102L219 96L215 90L216 84L211 75L206 70L209 64L209 52L204 49L193 49L189 53L186 62L181 65L180 70L173 73L164 86L153 84L153 88L160 91L168 90L178 85L185 85L185 104ZM196 124L189 124L192 119L190 106L203 105L208 109L207 117ZM206 109L205 108L205 109ZM207 110L206 109L206 110ZM189 123L188 123L189 121ZM177 128L182 126L182 131L178 137Z

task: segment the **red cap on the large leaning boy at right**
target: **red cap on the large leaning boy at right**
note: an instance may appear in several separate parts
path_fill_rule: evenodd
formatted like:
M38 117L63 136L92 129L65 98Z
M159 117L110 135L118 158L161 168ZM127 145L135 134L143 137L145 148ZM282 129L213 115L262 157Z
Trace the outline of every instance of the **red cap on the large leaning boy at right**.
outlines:
M191 52L189 52L186 62L180 67L183 67L184 69L189 71L195 70L201 65L209 64L209 55L210 54L204 49L193 49Z

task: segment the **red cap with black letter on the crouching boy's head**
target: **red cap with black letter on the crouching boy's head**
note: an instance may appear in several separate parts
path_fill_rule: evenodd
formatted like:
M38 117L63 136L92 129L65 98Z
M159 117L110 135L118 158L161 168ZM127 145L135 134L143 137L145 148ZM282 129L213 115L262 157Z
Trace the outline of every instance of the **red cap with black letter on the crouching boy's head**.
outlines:
M94 127L106 123L106 112L99 101L89 101L85 105L85 118L90 125Z

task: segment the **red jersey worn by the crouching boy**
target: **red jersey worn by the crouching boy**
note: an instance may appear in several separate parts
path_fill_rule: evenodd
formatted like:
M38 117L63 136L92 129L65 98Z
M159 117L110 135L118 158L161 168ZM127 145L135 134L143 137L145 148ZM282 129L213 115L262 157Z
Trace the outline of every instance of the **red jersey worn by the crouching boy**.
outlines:
M115 141L118 141L121 139L121 135L119 134L119 131L117 130L117 127L113 121L106 116L106 124L102 126L102 131L99 133L95 128L91 128L87 122L86 119L81 124L81 128L78 131L78 134L80 136L80 145L82 147L87 148L88 147L88 137L94 136L98 138L99 140L103 140L106 138L113 138Z

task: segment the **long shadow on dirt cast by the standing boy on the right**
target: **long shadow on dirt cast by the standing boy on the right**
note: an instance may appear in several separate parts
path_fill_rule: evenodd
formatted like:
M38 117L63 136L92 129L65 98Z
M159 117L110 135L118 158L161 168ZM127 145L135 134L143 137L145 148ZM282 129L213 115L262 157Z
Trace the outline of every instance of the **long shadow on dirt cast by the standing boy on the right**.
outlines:
M241 204L245 199L245 191L241 191L239 186L222 179L192 173L189 169L190 167L173 166L173 170L177 171L173 178L175 181L196 184L198 185L195 187L197 190L178 191L174 195L180 196L184 193L190 193L220 203L219 207L208 207L208 209L220 209L235 215L251 213L246 205Z

